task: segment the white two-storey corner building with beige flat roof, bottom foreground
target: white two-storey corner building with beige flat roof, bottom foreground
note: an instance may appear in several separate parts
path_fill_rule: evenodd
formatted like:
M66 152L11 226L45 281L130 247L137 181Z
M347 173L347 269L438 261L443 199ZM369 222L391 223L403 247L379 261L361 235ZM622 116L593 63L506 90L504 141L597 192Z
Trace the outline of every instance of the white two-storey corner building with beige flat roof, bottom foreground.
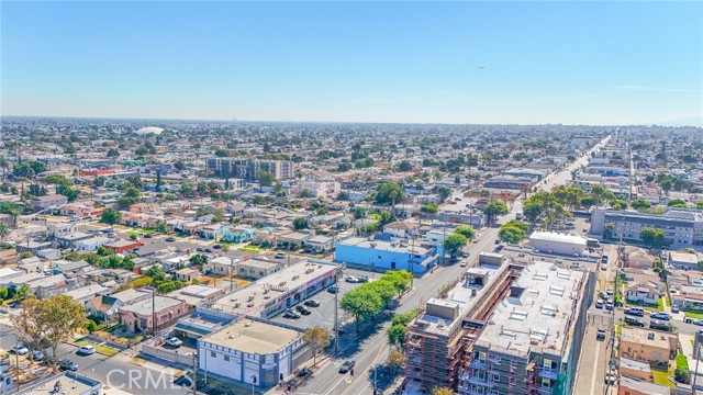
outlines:
M310 359L302 332L250 318L198 340L198 365L208 375L268 388Z

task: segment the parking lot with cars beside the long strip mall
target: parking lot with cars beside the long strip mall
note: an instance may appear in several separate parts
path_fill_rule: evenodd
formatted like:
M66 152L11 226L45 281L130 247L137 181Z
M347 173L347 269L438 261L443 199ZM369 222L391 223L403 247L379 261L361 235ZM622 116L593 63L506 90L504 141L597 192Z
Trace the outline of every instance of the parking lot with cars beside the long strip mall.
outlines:
M362 270L346 269L344 271L344 275L345 278L347 275L354 275L354 276L368 275L369 280L372 280L373 276L378 278L381 274L366 272ZM345 293L349 292L349 290L353 290L359 286L360 283L348 283L346 281L341 281L338 285L339 285L338 298L342 298L342 296L344 296ZM311 297L320 302L320 306L308 307L311 312L310 315L301 315L300 318L284 318L283 314L281 313L280 315L274 317L271 320L277 323L293 325L302 329L320 326L320 327L332 330L334 329L334 297L335 295L333 293L330 293L327 291L322 291ZM344 323L350 318L352 317L345 311L339 308L339 323Z

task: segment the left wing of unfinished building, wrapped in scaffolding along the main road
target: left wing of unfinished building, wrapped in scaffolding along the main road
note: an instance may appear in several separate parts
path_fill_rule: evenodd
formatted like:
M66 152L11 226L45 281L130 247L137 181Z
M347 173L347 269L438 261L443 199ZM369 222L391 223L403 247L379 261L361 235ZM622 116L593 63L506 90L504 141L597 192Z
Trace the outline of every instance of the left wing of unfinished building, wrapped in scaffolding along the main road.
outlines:
M458 388L459 373L471 343L491 312L511 291L520 267L503 257L470 268L443 297L421 306L421 315L408 328L405 392L436 386Z

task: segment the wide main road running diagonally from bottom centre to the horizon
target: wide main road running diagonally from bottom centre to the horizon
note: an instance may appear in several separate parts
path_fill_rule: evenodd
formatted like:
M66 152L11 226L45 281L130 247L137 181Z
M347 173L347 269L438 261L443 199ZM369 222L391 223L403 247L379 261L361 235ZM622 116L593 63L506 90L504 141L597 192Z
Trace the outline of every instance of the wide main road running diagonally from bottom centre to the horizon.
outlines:
M566 183L571 178L571 171L585 166L591 153L605 145L607 139L610 139L610 136L593 148L583 153L581 157L565 169L547 177L538 187L545 190L550 190L557 184ZM514 219L515 214L521 211L522 200L518 199L512 205L510 213L500 218L499 225ZM469 252L471 257L477 257L481 251L493 250L495 239L498 238L498 230L499 229L496 227L482 228L478 233L479 240L477 242L469 244L465 250ZM421 279L415 279L414 290L403 297L400 306L397 308L397 312L408 312L421 306L428 298L434 297L437 290L443 284L458 280L465 271L466 268L461 268L458 264L440 267L434 273L426 274ZM352 339L352 342L345 341L347 346L341 346L341 351L337 356L327 363L324 363L322 368L314 373L313 377L309 380L304 386L298 388L295 393L300 395L372 394L375 381L373 369L386 362L386 358L389 352L389 345L386 337L386 329L389 326L390 323L384 323L369 336L361 336L361 338ZM339 364L345 360L354 360L356 362L354 376L349 373L338 373ZM380 379L383 380L384 377ZM383 388L384 385L380 385L380 387Z

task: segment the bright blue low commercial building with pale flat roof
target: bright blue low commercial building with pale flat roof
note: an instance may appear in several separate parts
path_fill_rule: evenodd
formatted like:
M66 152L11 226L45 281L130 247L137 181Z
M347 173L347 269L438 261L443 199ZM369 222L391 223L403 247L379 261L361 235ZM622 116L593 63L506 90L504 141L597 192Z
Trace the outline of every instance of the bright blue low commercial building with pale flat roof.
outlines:
M337 242L334 255L337 262L364 266L372 270L408 270L415 275L422 275L432 269L437 263L437 257L435 248L420 247L419 241L413 247L410 240L369 240L364 237L352 237Z

